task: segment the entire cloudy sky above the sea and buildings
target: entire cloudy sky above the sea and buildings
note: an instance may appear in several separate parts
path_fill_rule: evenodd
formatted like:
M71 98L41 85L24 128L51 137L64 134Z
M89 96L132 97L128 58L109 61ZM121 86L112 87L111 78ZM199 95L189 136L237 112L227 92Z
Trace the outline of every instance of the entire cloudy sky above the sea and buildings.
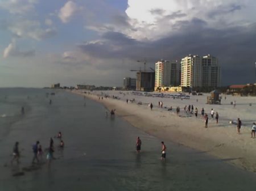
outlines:
M122 86L130 70L211 54L255 82L255 0L0 0L0 87Z

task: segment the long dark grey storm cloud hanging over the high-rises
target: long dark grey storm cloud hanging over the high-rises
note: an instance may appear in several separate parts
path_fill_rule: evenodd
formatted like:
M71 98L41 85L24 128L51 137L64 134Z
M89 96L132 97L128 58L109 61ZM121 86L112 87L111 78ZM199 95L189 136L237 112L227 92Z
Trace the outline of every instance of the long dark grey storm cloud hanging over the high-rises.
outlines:
M123 69L134 67L131 64L144 58L148 66L154 67L154 62L161 58L180 60L188 54L212 54L221 63L222 84L254 81L256 24L212 29L204 20L194 18L179 22L176 28L179 30L174 35L155 41L138 41L122 33L108 32L100 43L82 44L79 49L96 58L129 60L116 63Z

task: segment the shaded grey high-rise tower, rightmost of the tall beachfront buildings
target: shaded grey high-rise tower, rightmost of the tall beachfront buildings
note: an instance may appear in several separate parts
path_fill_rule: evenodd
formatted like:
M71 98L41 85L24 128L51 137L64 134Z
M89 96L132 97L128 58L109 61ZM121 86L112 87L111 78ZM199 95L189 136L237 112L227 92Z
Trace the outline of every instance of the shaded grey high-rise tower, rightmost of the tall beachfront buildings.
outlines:
M204 56L202 58L202 86L220 87L220 65L216 57Z

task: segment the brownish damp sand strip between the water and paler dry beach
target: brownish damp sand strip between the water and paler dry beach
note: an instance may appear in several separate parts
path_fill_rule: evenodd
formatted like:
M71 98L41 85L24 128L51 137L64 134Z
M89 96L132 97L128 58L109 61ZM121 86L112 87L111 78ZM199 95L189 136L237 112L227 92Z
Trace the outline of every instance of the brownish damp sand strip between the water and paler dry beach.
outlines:
M79 91L70 92L103 104L109 111L116 109L115 114L123 120L163 141L175 142L247 171L256 172L256 139L248 138L250 133L248 129L237 135L236 129L232 126L210 124L208 128L203 128L204 123L201 120L194 120L191 117L179 117L174 113L158 111L155 108L150 111L145 105L127 104L125 101L110 97L98 100L97 95L88 95Z

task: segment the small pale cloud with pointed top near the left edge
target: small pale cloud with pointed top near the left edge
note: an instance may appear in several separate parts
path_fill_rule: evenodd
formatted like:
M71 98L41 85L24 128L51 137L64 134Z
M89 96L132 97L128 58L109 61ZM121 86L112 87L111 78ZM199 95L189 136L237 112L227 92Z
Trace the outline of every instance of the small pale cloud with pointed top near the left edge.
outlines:
M21 51L16 46L16 41L13 40L6 48L3 50L3 58L7 58L10 56L14 57L28 57L28 56L34 56L35 52L34 50L28 50L28 51Z

